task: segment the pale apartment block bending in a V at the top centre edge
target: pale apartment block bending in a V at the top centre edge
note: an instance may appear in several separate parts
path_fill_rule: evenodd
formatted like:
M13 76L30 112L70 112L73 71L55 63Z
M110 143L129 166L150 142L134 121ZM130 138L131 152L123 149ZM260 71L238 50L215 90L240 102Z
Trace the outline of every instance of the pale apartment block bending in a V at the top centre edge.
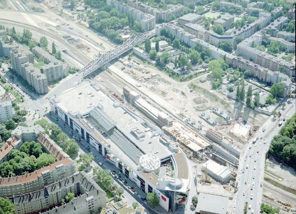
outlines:
M171 15L181 15L184 11L184 5L182 4L167 4L167 10L156 9L153 7L148 6L147 4L141 3L136 0L128 0L127 5L129 7L133 7L143 13L149 13L150 15L155 16L156 22L164 21L168 19Z

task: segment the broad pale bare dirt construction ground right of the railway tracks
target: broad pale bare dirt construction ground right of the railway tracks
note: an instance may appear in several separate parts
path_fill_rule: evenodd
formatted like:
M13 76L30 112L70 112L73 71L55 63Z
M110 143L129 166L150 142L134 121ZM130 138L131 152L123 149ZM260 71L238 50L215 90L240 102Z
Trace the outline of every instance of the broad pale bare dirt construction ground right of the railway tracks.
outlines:
M128 56L124 57L124 59L128 60ZM140 65L133 63L133 60L140 62ZM131 56L130 63L132 64L132 68L126 67L126 73L136 79L142 86L162 96L168 103L175 107L174 110L177 112L182 112L196 121L200 120L204 126L201 131L203 134L205 134L207 129L215 128L199 118L199 115L205 112L207 115L210 115L210 117L216 119L219 123L217 129L223 133L224 136L230 139L232 137L232 124L226 125L223 118L213 114L211 109L215 107L222 109L224 112L229 112L231 118L235 118L235 120L243 118L250 123L252 127L260 127L268 118L266 115L259 114L234 100L228 99L225 91L211 89L211 80L210 77L208 77L209 73L205 73L187 82L178 82L168 77L163 71L156 69L153 65L147 64L147 62L141 61L135 56ZM115 66L118 68L125 67L120 62L116 62ZM149 71L149 73L146 74L146 71ZM149 79L151 74L157 74L157 77ZM205 83L200 83L199 80L204 78L207 79L207 81ZM190 92L189 89L192 88L192 84L194 84L195 88L193 92ZM246 142L247 138L248 136L234 136L234 140L238 141L237 145L239 147Z

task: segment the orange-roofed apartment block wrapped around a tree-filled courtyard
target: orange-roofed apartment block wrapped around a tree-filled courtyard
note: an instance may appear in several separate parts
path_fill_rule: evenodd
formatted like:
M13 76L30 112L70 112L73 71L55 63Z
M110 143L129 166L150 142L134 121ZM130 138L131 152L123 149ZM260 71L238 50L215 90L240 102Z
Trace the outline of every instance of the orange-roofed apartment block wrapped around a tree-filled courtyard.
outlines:
M75 173L75 163L62 149L45 134L40 125L32 127L18 126L11 133L8 143L1 148L0 162L7 160L12 149L18 149L25 141L39 142L45 151L52 154L56 162L25 175L0 178L0 197L11 197L20 192L28 193L60 181Z

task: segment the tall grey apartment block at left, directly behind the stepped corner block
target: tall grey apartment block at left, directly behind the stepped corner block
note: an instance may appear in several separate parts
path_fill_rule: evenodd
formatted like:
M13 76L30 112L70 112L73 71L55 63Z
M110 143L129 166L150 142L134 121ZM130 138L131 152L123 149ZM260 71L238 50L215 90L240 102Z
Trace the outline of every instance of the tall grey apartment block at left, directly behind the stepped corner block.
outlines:
M21 69L21 65L25 62L34 64L33 53L23 48L13 48L10 51L10 61L12 70L20 75L24 80L27 80L25 73Z

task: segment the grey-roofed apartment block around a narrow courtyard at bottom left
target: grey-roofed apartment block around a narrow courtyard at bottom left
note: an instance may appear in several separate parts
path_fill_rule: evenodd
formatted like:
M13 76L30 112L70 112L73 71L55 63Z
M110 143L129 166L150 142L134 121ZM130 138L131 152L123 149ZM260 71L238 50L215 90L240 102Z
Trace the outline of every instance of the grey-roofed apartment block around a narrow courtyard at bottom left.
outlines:
M68 193L75 198L62 205ZM14 204L16 214L80 214L97 213L106 206L106 193L84 171L73 173L42 189L8 198Z

